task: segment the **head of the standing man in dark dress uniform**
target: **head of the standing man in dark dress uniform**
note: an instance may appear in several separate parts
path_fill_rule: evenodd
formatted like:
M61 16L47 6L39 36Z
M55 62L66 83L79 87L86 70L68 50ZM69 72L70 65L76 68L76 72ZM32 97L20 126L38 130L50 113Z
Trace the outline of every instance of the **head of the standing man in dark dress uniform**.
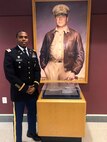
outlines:
M17 43L21 47L26 47L28 44L28 34L26 32L19 32L17 35Z

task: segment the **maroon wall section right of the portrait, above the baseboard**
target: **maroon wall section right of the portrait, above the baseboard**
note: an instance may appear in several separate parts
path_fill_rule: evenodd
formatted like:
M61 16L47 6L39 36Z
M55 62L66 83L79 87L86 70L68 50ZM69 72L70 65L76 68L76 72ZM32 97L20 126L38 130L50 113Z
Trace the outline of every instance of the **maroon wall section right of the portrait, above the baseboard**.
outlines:
M107 15L92 15L89 83L81 85L88 114L107 114Z

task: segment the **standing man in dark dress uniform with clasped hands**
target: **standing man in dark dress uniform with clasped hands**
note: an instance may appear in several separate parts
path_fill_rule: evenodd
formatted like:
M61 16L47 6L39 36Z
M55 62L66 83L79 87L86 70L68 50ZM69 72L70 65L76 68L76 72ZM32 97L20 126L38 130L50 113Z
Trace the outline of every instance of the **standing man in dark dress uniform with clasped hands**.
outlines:
M14 110L14 139L22 142L22 121L24 108L27 108L27 136L35 141L36 134L36 101L40 82L40 66L37 54L27 47L28 34L19 31L16 34L17 46L5 51L4 72L11 85L11 100Z

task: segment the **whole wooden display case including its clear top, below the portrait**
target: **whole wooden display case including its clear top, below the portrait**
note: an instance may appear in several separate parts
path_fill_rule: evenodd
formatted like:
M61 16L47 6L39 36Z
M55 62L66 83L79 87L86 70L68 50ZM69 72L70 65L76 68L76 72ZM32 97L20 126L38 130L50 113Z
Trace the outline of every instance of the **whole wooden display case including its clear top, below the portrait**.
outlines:
M76 90L78 95L75 94ZM60 95L59 92L61 92ZM79 97L71 97L73 92L74 96ZM37 101L37 120L40 136L84 137L86 101L79 85L45 84Z

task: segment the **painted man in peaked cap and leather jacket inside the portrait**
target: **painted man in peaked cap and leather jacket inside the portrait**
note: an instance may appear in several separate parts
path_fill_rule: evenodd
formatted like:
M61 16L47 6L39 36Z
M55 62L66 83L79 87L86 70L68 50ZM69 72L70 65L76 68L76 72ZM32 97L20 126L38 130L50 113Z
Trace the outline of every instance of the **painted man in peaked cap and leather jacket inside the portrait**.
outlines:
M69 7L53 7L56 28L46 33L40 51L40 65L47 79L73 80L84 63L84 49L80 34L68 27Z

